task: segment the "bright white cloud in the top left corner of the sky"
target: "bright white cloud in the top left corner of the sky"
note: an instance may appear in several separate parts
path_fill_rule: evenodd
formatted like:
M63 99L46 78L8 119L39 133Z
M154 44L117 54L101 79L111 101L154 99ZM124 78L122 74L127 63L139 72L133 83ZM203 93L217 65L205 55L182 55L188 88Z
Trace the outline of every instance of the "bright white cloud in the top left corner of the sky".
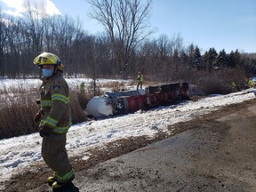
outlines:
M21 16L23 12L26 12L24 5L26 3L31 4L31 7L33 7L33 5L40 6L41 4L44 4L45 12L48 15L61 14L60 10L51 0L0 0L0 2L7 6L7 8L4 9L4 12L13 16Z

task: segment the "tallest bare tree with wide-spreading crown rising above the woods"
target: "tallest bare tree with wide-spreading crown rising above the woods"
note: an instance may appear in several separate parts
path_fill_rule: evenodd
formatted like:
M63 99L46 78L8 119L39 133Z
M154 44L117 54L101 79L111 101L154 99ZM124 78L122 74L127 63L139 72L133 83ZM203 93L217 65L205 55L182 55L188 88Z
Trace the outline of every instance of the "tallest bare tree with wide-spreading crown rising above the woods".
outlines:
M89 16L98 20L107 30L111 48L120 73L126 77L126 68L135 48L153 33L149 29L149 11L152 0L87 0L92 5Z

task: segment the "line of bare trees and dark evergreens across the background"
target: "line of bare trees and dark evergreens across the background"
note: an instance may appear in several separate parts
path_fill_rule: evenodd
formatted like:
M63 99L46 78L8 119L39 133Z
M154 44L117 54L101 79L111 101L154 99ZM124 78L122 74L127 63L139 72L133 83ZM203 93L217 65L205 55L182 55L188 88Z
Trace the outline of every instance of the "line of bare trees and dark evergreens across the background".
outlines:
M106 7L107 12L111 4L100 2L91 1L96 8ZM140 30L148 28L144 21L151 1L143 5L143 12L138 12L141 10L138 0L114 2L116 12L127 17L126 20L131 19L129 28L133 31L128 31L127 25L123 25L122 20L120 22L121 17L114 22L113 15L110 25L108 17L100 17L99 12L92 12L91 16L107 23L106 31L89 35L80 20L68 15L49 16L44 9L34 9L29 3L22 17L6 15L0 9L0 78L38 76L39 70L33 65L33 59L41 52L57 54L65 65L65 75L75 77L134 78L141 71L148 81L171 82L197 81L232 70L232 73L234 70L240 75L242 73L243 77L256 74L255 53L238 50L227 53L224 49L217 52L213 47L202 52L196 44L186 44L180 34L149 38L153 30L144 35ZM124 2L129 6L124 6ZM138 26L140 28L135 28Z

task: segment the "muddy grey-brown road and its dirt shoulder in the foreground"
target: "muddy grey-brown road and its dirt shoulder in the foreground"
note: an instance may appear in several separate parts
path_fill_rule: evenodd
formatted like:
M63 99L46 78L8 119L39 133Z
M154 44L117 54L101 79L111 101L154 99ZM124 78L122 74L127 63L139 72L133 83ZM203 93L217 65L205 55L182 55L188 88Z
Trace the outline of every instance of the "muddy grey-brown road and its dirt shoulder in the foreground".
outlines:
M170 126L171 137L119 140L87 161L72 159L76 179L59 191L256 191L255 127L256 100L249 100ZM35 164L4 191L51 191L48 174Z

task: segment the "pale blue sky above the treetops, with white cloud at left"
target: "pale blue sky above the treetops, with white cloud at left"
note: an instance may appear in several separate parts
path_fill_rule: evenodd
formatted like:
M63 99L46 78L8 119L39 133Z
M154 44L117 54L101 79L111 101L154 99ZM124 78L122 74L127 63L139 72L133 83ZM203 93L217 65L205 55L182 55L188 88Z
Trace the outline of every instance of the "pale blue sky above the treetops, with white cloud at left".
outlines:
M42 0L41 0L42 1ZM143 2L144 0L141 0ZM22 0L0 0L2 10L19 9ZM78 17L91 34L103 30L88 17L86 0L45 0L49 12ZM153 0L150 23L155 36L172 38L180 34L186 44L196 44L202 52L214 47L217 52L256 52L256 0Z

